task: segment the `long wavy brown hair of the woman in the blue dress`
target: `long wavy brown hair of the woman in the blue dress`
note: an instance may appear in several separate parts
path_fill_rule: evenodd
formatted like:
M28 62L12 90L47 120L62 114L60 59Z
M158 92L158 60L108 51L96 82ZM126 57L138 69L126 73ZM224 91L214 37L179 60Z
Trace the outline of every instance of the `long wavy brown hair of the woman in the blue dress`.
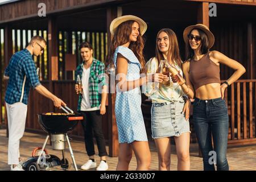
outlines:
M122 46L123 44L126 44L127 42L129 42L129 38L132 32L131 26L133 25L133 23L134 23L134 20L129 20L119 24L119 26L117 27L117 30L115 31L112 42L110 44L109 55L108 55L108 59L106 60L106 67L109 64L111 67L113 66L113 57L114 57L115 49L118 46ZM137 37L137 41L130 43L129 49L133 51L134 55L138 58L139 63L141 63L142 72L144 72L144 65L145 65L143 48L144 48L144 39L141 36L141 34L139 34Z

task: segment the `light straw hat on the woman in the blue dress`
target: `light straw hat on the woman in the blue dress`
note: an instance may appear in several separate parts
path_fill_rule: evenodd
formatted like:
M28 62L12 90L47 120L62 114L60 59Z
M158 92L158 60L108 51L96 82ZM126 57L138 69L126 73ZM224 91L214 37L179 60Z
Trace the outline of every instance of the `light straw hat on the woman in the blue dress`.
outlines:
M139 30L140 30L140 34L143 35L146 30L147 30L147 23L144 22L144 20L142 20L141 18L134 16L134 15L125 15L125 16L119 16L118 18L115 18L111 24L110 24L110 33L112 35L114 35L115 30L117 30L117 27L119 26L119 24L129 21L129 20L133 20L134 22L137 22L139 24Z

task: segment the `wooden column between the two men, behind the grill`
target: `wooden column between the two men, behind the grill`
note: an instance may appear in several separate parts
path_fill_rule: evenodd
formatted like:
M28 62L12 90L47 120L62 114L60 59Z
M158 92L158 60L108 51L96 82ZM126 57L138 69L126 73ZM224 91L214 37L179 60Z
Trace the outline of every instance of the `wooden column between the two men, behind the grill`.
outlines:
M58 53L57 53L57 23L54 17L48 20L48 79L49 91L54 93L53 80L58 80ZM49 106L50 111L53 111L52 102Z

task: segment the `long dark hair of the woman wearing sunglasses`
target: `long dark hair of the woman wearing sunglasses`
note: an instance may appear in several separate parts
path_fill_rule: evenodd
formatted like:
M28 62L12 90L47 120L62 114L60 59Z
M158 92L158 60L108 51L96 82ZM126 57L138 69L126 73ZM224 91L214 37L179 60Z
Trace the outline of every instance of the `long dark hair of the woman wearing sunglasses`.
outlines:
M200 52L204 55L209 51L209 40L208 40L208 36L207 34L205 34L205 32L203 30L194 28L193 30L197 30L199 31L199 35L201 36L201 47L200 47ZM191 30L191 32L193 31ZM189 34L191 34L191 32L189 32ZM191 59L193 59L194 56L194 51L191 48L190 44L189 44L189 40L188 42L186 42L186 58L188 61L191 61Z

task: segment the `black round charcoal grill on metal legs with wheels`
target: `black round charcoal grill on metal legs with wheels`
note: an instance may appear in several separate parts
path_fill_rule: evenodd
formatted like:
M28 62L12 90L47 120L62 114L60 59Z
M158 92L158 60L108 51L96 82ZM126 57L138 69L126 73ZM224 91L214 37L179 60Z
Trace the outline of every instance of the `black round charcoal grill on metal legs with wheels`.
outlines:
M37 160L36 160L36 163L34 163L34 165L36 166L34 168L34 171L35 169L46 170L42 168L43 165L40 163L42 163L42 159L44 158L44 151L50 135L51 135L53 150L61 150L63 155L63 159L57 164L61 164L62 168L63 166L64 167L68 166L68 161L67 159L65 159L65 143L67 142L69 147L69 152L71 154L71 158L73 161L73 165L77 171L75 156L73 155L72 147L69 142L68 133L71 132L74 129L74 127L76 127L77 123L84 118L82 114L74 113L67 106L61 107L61 109L63 109L67 114L64 114L64 113L57 114L57 115L55 115L54 113L38 114L40 126L44 131L46 131L47 137L46 137L46 140L44 141L44 144L43 144L42 150L40 151L39 156L36 156ZM28 160L33 162L35 161L35 160L31 160L31 158ZM67 165L63 165L63 162L64 164L67 164ZM28 163L26 163L26 165L27 164ZM44 166L47 166L47 165L44 165ZM23 168L25 167L23 166ZM52 170L54 169L56 169L56 166L52 168ZM48 168L48 170L51 170L51 168Z

